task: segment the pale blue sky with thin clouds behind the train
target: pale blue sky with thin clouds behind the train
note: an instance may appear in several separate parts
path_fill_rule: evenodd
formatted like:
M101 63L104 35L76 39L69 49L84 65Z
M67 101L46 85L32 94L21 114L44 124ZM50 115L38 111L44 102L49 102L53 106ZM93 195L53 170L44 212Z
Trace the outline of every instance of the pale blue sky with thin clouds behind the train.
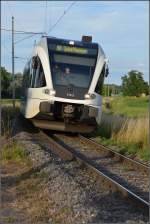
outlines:
M2 1L1 28L47 32L49 36L81 40L92 35L109 61L106 83L121 84L121 77L138 70L149 80L149 2L148 1L76 1L49 32L72 1ZM47 7L46 7L47 6ZM46 16L47 15L47 16ZM28 35L15 34L15 42ZM30 57L35 35L15 44L15 72L22 72ZM12 70L11 32L1 31L1 66Z

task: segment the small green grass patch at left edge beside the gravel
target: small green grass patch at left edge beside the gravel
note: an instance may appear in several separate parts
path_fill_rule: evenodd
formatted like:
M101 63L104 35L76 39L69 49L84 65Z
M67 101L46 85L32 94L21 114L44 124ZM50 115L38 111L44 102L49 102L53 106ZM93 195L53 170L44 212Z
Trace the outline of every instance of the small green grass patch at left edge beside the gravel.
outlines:
M2 161L13 161L18 163L29 163L28 153L19 143L12 141L4 146L1 152Z

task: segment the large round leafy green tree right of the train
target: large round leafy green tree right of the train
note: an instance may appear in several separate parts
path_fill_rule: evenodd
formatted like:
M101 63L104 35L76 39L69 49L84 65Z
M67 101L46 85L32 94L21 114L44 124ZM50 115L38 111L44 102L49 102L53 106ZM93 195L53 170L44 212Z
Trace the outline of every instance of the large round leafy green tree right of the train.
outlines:
M148 83L143 79L143 73L131 70L122 78L122 92L124 96L140 96L148 94Z

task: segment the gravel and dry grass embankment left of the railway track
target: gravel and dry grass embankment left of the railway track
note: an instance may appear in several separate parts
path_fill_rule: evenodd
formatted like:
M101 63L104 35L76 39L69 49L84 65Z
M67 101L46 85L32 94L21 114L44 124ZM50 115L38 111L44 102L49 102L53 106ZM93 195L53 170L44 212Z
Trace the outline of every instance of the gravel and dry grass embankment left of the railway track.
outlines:
M13 117L14 118L14 117ZM146 223L82 163L63 160L18 114L2 148L0 223Z

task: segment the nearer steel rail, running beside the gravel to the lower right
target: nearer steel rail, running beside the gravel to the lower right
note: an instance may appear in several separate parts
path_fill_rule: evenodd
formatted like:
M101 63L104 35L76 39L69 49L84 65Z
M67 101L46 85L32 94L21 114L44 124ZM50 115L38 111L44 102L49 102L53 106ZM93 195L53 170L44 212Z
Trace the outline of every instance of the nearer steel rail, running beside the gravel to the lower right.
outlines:
M123 185L115 181L113 178L103 173L103 171L100 169L100 167L97 164L95 164L92 160L87 158L82 153L75 151L73 147L65 144L57 136L55 135L48 136L47 134L45 135L47 136L51 150L54 150L54 151L56 150L56 154L57 153L59 154L59 152L61 152L59 156L63 155L63 159L64 159L65 155L62 153L62 150L63 150L63 152L67 155L67 159L69 155L70 159L76 158L77 160L81 161L88 168L94 171L99 177L102 177L104 181L108 182L109 188L111 188L111 190L121 193L123 197L128 197L134 200L135 202L140 204L142 207L144 207L145 209L144 211L146 212L149 211L149 205L150 205L149 201L144 200L139 195L132 192L129 188L124 187Z

